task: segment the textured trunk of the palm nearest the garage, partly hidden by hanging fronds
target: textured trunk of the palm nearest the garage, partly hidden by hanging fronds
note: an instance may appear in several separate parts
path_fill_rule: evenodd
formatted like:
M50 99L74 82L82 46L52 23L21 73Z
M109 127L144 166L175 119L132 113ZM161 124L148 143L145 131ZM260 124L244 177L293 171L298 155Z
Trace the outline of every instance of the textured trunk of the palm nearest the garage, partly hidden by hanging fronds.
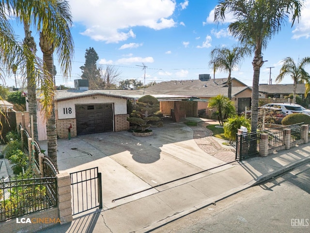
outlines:
M43 61L47 67L51 80L53 80L53 45L46 40L44 33L40 33L40 48L43 52ZM55 83L54 83L55 84ZM47 119L47 154L57 166L57 129L55 117L55 104L52 104L50 117Z

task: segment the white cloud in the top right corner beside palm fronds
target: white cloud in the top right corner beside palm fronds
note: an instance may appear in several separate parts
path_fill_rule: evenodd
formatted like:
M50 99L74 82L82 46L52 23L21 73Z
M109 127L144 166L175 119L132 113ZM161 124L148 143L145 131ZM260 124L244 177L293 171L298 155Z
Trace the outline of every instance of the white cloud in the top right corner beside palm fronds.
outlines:
M296 28L292 33L293 39L300 37L310 38L310 0L305 1L305 8L301 11L299 23L296 24Z

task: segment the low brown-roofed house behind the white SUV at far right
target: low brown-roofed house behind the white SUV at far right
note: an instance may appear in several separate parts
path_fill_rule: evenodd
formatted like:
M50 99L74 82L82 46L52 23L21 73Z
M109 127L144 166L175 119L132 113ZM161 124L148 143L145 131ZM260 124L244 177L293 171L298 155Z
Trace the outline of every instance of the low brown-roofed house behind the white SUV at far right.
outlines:
M305 98L305 84L297 84L296 95ZM293 94L293 84L260 84L260 98L284 98Z

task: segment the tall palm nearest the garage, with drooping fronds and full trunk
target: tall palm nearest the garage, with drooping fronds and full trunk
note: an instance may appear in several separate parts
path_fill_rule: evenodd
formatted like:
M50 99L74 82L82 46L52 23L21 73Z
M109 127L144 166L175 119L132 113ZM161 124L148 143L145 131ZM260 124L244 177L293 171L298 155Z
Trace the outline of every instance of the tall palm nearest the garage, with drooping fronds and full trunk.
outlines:
M53 53L56 50L62 73L66 79L71 71L71 61L74 53L73 38L70 32L72 18L69 4L66 0L12 0L15 4L15 14L24 25L33 24L40 32L40 48L43 52L43 63L48 71L46 80L50 89L42 89L43 108L47 118L47 153L57 165L57 132L53 82ZM25 30L26 31L26 30ZM39 83L40 84L40 83Z

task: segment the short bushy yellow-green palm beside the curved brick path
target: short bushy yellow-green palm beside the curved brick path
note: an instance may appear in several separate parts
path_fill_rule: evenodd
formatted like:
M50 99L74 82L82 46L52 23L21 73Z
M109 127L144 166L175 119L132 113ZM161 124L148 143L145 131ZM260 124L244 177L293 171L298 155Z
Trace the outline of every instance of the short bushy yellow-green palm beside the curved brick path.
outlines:
M217 95L211 98L208 107L217 108L217 118L221 126L223 126L224 120L227 119L227 117L235 115L235 108L232 101L223 95Z

